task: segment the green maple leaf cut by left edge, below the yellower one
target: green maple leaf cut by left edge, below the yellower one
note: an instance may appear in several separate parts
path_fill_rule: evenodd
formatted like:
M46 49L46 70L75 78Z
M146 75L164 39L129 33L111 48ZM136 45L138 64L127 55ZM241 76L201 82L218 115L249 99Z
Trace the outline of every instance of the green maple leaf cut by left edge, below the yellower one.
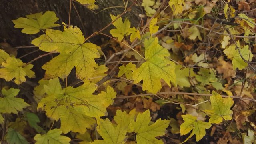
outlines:
M18 114L18 111L22 111L23 108L29 106L24 99L15 98L18 95L19 89L10 88L6 90L2 89L3 98L0 97L0 112L2 113L14 113Z

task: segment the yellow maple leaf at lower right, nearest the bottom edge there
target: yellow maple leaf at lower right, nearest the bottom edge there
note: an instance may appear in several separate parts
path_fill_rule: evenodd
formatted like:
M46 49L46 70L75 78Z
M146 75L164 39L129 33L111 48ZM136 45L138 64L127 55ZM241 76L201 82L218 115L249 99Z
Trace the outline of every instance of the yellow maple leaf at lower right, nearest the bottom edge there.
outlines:
M208 122L197 120L196 116L192 116L190 114L182 115L181 117L183 118L184 122L180 125L180 135L188 134L188 132L192 130L192 133L184 142L186 142L194 134L196 135L196 141L198 142L205 136L205 129L212 126L212 124Z

